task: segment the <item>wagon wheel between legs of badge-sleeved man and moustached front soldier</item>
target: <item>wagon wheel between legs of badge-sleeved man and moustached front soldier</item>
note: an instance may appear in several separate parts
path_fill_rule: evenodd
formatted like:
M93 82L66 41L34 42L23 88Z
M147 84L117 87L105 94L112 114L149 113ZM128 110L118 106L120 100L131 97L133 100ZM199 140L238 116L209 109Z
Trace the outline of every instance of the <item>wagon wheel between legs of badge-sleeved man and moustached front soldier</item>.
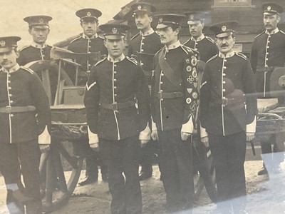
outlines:
M205 187L212 202L217 202L216 174L214 170L213 158L209 148L206 148L201 142L196 143L192 148L193 166L198 171L195 179L195 200L199 199Z

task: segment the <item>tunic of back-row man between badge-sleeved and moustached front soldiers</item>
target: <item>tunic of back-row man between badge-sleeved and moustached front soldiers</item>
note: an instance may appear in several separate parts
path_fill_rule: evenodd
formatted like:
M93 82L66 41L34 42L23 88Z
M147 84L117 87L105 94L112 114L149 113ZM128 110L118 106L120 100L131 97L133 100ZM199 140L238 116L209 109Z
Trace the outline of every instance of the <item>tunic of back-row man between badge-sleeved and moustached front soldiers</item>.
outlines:
M198 51L200 60L204 62L207 62L209 58L212 58L212 56L219 52L214 40L208 36L204 36L204 34L196 40L191 37L184 45Z

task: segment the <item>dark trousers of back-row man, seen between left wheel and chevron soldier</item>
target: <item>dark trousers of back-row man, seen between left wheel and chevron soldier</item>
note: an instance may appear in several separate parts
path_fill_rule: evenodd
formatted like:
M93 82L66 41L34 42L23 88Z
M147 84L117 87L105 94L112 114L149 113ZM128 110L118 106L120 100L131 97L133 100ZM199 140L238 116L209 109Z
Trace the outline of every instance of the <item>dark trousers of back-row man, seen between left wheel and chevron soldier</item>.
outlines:
M100 152L93 151L88 141L73 142L73 153L76 156L86 158L86 176L98 178L98 165L100 163L101 174L108 173L107 165L101 161Z

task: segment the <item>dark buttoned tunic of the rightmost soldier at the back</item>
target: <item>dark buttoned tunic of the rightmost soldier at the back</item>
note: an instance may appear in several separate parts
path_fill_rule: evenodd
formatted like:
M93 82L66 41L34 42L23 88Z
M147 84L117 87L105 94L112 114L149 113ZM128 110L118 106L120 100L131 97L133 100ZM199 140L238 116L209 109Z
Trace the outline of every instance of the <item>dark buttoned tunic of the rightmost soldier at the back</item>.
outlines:
M285 63L285 33L275 29L271 34L264 31L256 36L252 44L250 62L256 76L259 98L269 98L271 73L275 67L284 67Z

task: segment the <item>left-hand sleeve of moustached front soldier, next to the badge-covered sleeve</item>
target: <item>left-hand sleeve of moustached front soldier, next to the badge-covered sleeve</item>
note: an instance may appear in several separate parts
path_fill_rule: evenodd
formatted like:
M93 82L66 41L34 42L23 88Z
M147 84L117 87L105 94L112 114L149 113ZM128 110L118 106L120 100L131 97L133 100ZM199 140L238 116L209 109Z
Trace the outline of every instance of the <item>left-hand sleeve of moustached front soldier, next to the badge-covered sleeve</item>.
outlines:
M206 63L200 88L199 116L202 128L206 128L209 100L211 98L211 79L209 76L209 64Z

